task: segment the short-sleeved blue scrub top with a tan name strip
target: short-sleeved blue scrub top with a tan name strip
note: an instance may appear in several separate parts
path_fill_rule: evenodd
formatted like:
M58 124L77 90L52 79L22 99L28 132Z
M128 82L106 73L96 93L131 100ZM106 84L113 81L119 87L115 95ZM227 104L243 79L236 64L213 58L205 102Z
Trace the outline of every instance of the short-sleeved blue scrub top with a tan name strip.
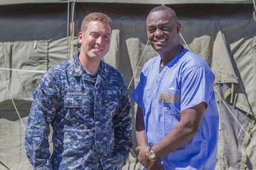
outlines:
M160 158L165 169L215 169L219 113L214 74L197 54L183 49L159 73L161 57L148 60L132 94L143 109L148 145L153 146L181 120L181 111L206 102L200 130L180 149Z

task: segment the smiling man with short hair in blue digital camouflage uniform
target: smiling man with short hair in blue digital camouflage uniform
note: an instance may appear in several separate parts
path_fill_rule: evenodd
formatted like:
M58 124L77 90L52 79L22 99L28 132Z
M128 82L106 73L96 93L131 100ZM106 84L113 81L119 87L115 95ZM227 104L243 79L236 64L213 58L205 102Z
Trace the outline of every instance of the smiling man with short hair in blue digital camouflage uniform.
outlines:
M34 169L112 170L127 162L132 146L128 89L124 76L102 60L111 33L107 15L87 15L78 33L80 52L42 76L25 139Z

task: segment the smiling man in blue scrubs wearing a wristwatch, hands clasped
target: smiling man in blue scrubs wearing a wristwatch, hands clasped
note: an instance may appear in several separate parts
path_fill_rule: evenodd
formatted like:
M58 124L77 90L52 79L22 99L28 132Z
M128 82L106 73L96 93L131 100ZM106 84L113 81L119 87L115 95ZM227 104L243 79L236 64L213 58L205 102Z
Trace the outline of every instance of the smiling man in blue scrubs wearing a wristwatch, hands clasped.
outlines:
M132 94L138 104L138 160L148 170L215 169L219 114L213 72L179 44L175 11L153 8L146 23L159 55L144 65Z

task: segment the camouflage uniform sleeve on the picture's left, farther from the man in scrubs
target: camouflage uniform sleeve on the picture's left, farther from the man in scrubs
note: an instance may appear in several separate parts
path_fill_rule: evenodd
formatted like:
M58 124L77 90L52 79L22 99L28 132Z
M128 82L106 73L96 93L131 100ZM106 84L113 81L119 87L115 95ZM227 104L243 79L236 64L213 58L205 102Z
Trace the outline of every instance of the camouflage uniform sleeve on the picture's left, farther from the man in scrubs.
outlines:
M33 93L27 121L25 145L27 158L34 169L52 169L48 136L49 124L55 117L56 90L48 76L43 76Z

